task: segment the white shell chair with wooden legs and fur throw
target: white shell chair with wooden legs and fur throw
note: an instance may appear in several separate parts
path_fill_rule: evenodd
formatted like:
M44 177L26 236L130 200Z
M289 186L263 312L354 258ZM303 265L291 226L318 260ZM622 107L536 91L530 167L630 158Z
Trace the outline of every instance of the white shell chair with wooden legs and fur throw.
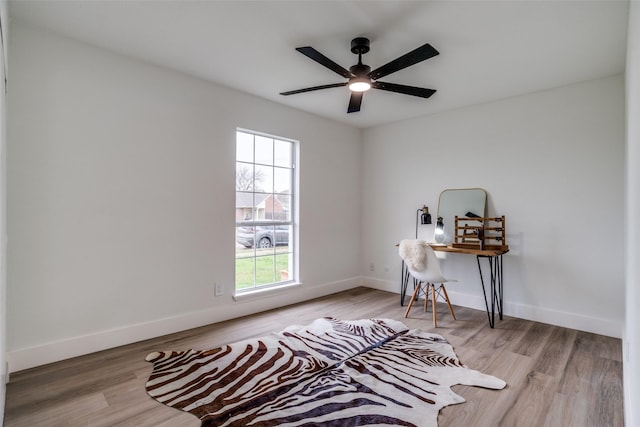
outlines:
M414 286L415 290L413 291L413 295L411 296L411 301L409 301L409 306L407 307L407 311L404 314L404 317L409 316L409 311L411 310L411 306L420 296L420 292L424 292L424 311L427 311L427 306L429 304L429 294L431 294L431 305L433 307L433 326L438 326L438 317L436 314L436 301L438 297L443 298L447 305L449 306L449 312L451 313L451 317L453 320L456 320L456 315L453 312L453 307L451 307L451 302L449 301L449 295L447 294L447 289L444 287L444 283L446 282L456 282L456 280L447 279L442 275L440 271L440 261L436 256L435 252L429 245L425 245L425 257L426 257L426 268L423 271L414 271L411 270L407 266L407 270L409 274L415 279ZM405 263L406 264L406 263Z

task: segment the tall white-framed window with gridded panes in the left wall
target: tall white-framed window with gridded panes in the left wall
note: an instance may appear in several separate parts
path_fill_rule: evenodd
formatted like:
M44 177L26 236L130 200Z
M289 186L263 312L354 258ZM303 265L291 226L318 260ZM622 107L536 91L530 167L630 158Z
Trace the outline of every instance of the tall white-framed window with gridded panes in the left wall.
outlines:
M295 149L291 140L236 132L236 292L295 277Z

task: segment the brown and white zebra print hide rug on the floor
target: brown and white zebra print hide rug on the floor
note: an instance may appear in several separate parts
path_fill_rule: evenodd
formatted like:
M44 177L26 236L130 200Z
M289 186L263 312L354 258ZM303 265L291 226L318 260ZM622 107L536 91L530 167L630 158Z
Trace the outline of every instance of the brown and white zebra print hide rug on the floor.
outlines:
M211 350L150 353L147 393L203 426L437 426L450 387L506 383L440 335L390 319L318 319Z

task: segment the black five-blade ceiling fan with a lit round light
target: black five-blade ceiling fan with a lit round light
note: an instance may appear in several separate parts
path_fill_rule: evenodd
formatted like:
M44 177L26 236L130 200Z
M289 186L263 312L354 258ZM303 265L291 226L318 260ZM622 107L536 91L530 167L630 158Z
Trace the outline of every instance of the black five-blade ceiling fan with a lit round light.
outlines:
M429 98L436 91L435 89L425 89L415 86L406 86L396 83L381 82L378 79L384 76L388 76L391 73L400 71L404 68L410 67L418 62L422 62L426 59L432 58L438 55L440 52L435 50L433 46L426 43L419 48L406 53L399 58L376 68L371 71L371 67L362 63L362 55L369 52L369 39L365 37L356 37L351 40L351 52L358 55L358 63L348 70L331 59L327 58L311 46L297 47L296 50L306 57L313 59L318 64L323 65L331 71L340 74L342 77L349 79L344 83L333 83L328 85L313 86L304 89L292 90L289 92L282 92L280 95L294 95L297 93L311 92L320 89L329 89L332 87L349 86L351 90L351 98L349 99L349 107L347 113L355 113L360 111L360 105L362 104L362 96L367 90L381 89L389 92L402 93L404 95L419 96L421 98Z

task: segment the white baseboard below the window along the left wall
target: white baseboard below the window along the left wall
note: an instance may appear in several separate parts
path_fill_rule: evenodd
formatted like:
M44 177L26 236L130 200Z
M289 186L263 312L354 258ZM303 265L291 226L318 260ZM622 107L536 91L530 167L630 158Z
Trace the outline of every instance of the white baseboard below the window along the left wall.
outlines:
M22 371L121 345L132 344L150 338L295 304L361 285L362 278L358 276L312 286L308 284L295 286L290 289L290 292L286 293L286 296L283 296L285 295L283 293L273 293L259 299L239 301L234 301L231 296L226 296L228 303L225 302L206 310L10 351L7 353L7 369L8 373Z

